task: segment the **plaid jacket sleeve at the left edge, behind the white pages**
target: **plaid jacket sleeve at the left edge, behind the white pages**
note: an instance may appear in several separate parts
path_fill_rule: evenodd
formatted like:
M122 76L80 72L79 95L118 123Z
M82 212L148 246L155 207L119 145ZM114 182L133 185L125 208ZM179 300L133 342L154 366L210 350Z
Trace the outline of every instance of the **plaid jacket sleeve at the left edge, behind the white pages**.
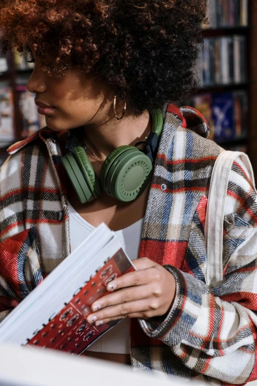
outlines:
M36 227L25 229L21 152L0 168L0 321L42 280Z

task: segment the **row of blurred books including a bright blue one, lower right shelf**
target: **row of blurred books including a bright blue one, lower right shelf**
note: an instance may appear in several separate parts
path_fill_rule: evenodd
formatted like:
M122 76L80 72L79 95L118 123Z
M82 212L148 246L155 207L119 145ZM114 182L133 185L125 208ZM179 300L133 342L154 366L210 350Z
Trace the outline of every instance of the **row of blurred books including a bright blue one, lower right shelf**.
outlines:
M186 105L194 107L205 117L210 127L209 139L217 143L246 139L246 91L196 94Z

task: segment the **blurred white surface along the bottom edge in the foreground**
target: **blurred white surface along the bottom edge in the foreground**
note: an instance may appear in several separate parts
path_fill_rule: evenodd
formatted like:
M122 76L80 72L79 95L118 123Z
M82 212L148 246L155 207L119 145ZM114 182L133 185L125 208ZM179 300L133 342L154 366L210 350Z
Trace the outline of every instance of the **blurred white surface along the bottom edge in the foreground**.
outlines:
M160 380L158 378L134 372L126 365L75 358L58 351L0 346L0 386L183 385L176 380L166 380L163 375Z

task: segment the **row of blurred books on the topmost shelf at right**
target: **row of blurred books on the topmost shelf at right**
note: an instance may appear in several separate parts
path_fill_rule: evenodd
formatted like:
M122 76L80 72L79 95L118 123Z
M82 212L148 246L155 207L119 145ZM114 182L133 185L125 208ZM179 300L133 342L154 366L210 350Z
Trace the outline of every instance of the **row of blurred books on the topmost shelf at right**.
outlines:
M203 29L247 27L248 0L208 0L208 23Z

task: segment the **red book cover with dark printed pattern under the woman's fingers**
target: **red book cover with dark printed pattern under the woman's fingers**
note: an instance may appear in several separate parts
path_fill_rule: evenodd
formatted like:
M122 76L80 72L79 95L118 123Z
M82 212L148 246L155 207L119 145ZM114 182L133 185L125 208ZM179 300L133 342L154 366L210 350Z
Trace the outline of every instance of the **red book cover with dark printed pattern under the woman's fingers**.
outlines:
M27 345L81 354L102 334L117 324L111 321L96 327L86 321L92 313L90 307L97 299L109 293L106 285L128 272L134 271L124 251L120 249L88 281L68 304L42 329L28 340Z

